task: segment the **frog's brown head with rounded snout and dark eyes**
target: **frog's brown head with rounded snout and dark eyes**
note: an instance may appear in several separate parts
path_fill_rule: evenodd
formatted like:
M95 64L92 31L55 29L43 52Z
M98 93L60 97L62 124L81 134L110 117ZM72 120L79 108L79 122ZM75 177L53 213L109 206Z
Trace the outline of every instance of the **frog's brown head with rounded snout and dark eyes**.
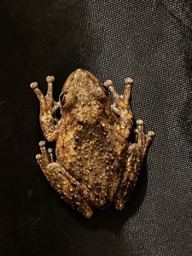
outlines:
M77 69L67 78L61 95L61 114L76 109L79 113L93 113L97 116L104 109L111 108L108 88L93 74Z

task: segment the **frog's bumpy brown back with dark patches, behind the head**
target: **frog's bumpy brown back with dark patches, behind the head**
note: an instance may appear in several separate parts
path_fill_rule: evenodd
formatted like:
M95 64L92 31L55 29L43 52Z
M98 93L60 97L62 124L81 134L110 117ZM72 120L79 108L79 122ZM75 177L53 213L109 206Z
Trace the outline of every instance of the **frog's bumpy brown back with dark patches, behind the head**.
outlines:
M81 124L81 128L77 126L75 130L69 125L56 145L57 160L95 195L96 207L113 200L113 186L119 177L119 156L125 147L117 147L113 127L109 129L106 125Z

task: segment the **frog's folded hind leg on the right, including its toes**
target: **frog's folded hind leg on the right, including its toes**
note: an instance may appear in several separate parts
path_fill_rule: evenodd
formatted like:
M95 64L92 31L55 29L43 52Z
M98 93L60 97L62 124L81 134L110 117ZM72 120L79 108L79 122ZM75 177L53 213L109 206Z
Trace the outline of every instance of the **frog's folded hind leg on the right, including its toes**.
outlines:
M148 131L148 134L144 134L143 120L137 120L137 129L135 130L136 143L132 143L128 147L128 160L125 172L121 177L119 189L114 200L115 207L118 210L122 210L125 207L125 202L137 183L137 177L143 163L143 158L153 137L154 131Z

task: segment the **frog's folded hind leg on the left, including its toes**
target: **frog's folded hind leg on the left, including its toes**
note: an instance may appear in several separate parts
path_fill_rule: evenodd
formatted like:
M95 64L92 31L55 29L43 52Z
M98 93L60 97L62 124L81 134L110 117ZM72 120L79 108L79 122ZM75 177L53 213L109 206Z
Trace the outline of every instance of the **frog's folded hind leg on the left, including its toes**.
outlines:
M89 191L82 188L81 184L61 164L54 162L53 150L49 148L47 151L44 141L40 142L39 146L41 154L38 154L36 159L51 186L69 206L82 213L85 218L90 218L93 210L86 197Z

